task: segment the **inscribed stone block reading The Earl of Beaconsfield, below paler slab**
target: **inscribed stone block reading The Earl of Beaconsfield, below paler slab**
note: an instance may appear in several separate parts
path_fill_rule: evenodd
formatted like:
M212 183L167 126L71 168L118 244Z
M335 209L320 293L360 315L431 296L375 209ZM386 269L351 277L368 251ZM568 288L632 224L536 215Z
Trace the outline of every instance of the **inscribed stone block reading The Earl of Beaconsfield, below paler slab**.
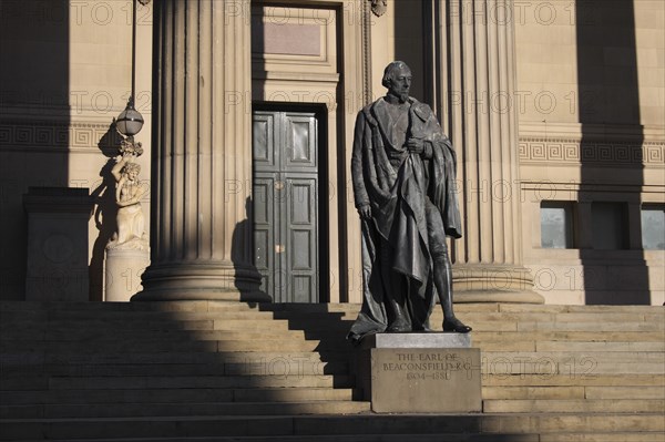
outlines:
M380 413L480 412L480 349L372 349L371 408Z

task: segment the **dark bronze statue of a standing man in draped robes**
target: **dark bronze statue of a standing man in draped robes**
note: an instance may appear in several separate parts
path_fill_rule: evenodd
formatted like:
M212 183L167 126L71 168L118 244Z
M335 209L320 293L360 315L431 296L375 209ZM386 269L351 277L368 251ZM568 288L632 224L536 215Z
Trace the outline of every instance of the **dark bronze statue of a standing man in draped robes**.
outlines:
M446 236L461 237L456 155L432 110L409 96L411 70L383 72L388 94L358 113L351 157L362 222L362 309L348 338L429 330L436 294L443 330L471 328L452 310Z

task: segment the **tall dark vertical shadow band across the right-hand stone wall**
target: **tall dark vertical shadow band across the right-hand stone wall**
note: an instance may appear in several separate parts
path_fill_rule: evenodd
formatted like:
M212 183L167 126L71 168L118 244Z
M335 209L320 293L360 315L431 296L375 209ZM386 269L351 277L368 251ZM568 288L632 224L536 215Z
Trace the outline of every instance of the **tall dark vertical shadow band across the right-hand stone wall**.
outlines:
M644 135L634 3L575 2L580 204L586 205L592 230L580 249L587 305L651 304L640 223ZM637 191L622 189L620 197L611 185Z

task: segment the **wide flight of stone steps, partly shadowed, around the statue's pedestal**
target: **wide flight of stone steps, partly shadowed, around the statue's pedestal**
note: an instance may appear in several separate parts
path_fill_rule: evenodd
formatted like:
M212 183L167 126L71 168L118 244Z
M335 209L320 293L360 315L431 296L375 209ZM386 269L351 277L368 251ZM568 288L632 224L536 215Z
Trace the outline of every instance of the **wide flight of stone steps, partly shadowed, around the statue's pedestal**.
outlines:
M665 440L662 307L456 306L482 350L464 415L357 400L358 308L0 302L0 440Z

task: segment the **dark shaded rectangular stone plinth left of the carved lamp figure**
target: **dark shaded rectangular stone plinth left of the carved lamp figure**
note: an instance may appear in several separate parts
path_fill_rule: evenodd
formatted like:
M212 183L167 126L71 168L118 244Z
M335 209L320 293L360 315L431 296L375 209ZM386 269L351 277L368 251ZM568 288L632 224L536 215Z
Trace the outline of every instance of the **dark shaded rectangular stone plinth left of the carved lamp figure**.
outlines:
M93 202L88 188L30 187L23 206L28 212L25 300L89 300L88 220Z

